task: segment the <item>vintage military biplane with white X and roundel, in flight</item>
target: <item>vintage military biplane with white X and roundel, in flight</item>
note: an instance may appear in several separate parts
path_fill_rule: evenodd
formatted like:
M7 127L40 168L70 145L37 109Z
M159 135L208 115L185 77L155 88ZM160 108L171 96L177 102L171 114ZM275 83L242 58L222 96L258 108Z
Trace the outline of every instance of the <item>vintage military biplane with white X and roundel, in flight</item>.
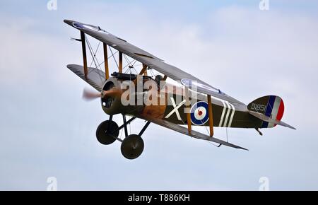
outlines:
M144 148L141 136L151 123L210 141L218 147L229 146L243 150L247 149L213 136L213 128L250 128L256 129L261 135L260 129L276 125L295 129L281 121L284 102L276 95L264 96L245 105L220 89L108 33L100 26L70 20L64 22L80 31L81 38L72 40L81 42L83 52L83 65L69 64L67 67L98 90L96 93L84 90L83 97L100 98L102 110L110 116L98 126L96 137L104 145L120 141L125 158L135 159L141 155ZM88 37L98 40L98 47L102 44L104 61L101 64L95 58L96 52ZM93 58L90 66L87 47ZM111 75L110 59L114 60L117 69ZM136 69L137 64L140 66L139 71ZM132 74L131 70L136 71L136 74ZM159 74L154 75L153 71ZM168 83L167 80L177 83ZM121 126L112 120L114 115L122 115ZM127 120L126 117L131 118ZM134 119L143 119L146 124L139 134L128 134L127 125ZM208 134L195 131L192 129L194 126L207 127ZM123 130L124 139L121 139L119 131Z

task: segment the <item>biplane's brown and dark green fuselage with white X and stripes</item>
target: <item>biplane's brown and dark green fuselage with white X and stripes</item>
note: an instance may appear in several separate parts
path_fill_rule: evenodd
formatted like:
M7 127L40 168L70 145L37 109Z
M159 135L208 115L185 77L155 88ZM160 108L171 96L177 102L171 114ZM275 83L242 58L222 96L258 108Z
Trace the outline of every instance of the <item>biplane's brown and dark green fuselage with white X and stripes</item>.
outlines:
M153 83L153 85L157 83L152 78L143 78L143 83L146 81L150 84ZM117 88L111 100L102 98L102 108L107 115L122 113L142 119L150 116L165 119L174 124L187 124L187 112L190 111L192 125L208 126L208 99L206 95L167 82L164 82L164 86L158 84L158 89L144 87L138 89L136 79L128 81L128 84L132 85L130 88L123 88L125 83L127 84L127 81L117 78L110 78L105 83L103 90ZM131 96L134 97L133 100L130 99ZM125 99L130 100L130 103L124 102ZM212 97L211 100L214 127L261 127L261 120L249 115L247 105L242 102L235 100L229 102L216 97Z

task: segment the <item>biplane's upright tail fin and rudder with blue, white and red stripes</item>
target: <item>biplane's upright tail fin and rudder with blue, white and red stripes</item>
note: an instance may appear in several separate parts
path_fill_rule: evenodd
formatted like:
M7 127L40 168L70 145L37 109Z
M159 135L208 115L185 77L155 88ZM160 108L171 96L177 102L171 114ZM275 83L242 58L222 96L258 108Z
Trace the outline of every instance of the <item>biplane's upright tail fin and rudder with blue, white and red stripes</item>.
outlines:
M252 112L258 112L259 114L269 117L269 119L272 119L271 122L280 122L284 114L284 102L278 96L269 95L258 98L257 100L249 103L249 105L247 105L247 109ZM261 128L275 127L276 124L273 124L271 122L266 122L263 120Z

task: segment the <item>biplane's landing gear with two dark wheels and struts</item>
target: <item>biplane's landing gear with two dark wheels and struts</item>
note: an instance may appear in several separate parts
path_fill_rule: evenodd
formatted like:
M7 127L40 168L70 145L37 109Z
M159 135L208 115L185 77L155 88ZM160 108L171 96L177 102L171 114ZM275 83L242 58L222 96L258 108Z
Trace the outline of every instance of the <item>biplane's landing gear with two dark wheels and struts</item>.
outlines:
M122 155L129 159L134 160L141 156L141 153L143 153L143 148L145 144L143 143L143 139L141 136L143 135L143 132L146 131L147 127L149 126L150 122L147 122L143 129L139 132L139 134L131 134L128 135L128 129L127 124L130 124L134 121L136 117L132 117L128 121L126 121L126 116L123 115L123 121L124 124L122 126L118 127L117 123L112 121L112 116L110 116L110 120L107 120L105 122L102 122L100 126L98 126L98 129L96 130L96 136L98 141L101 144L112 144L114 141L118 140L122 143L122 146L120 147L122 151ZM119 139L119 131L124 128L125 133L125 139Z

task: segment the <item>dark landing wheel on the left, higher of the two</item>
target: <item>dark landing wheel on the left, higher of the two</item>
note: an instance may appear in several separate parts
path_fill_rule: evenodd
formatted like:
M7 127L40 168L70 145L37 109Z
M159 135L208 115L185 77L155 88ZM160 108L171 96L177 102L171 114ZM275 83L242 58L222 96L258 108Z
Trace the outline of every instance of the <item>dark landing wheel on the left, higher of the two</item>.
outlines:
M96 137L100 144L108 145L116 141L113 136L117 137L119 135L119 131L116 131L117 129L118 125L114 121L107 120L100 123L98 129L96 130Z

